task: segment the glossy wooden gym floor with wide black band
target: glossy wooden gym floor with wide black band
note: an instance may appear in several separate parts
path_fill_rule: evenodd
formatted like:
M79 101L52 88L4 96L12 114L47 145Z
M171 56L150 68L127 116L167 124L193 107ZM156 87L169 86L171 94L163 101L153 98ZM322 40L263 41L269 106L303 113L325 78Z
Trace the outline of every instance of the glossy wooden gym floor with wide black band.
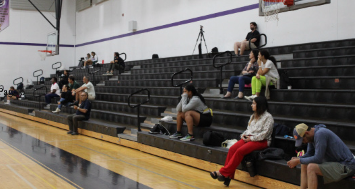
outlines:
M218 189L209 173L0 112L0 189ZM231 189L258 187L232 181Z

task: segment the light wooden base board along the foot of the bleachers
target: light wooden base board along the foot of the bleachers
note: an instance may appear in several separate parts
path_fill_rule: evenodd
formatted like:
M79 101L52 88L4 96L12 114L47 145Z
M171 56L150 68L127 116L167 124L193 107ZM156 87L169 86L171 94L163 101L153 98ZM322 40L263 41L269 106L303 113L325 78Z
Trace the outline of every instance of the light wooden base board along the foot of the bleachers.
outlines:
M66 129L66 130L68 128L67 125L64 125L64 124L61 124L58 122L54 122L54 121L45 120L42 118L37 118L37 117L31 116L31 115L21 114L21 113L15 112L15 111L5 110L5 109L1 109L1 108L0 108L0 111L2 111L3 113L16 115L18 117L22 117L22 118L29 119L32 121L41 122L43 124L47 124L50 126L54 126L54 127L58 127L58 128ZM204 171L215 171L215 170L219 170L221 167L223 167L222 165L219 165L219 164L215 164L215 163L204 161L204 160L197 159L197 158L192 158L190 156L178 154L178 153L168 151L168 150L163 150L160 148L155 148L155 147L152 147L149 145L129 141L126 139L118 139L117 137L105 136L104 134L96 133L93 131L88 131L88 130L83 130L83 129L80 130L80 128L79 128L79 131L80 131L80 134L83 134L83 135L86 135L89 137L98 138L103 141L119 144L119 145L122 145L122 146L125 146L128 148L137 149L137 150L143 151L147 154L152 154L152 155L155 155L155 156L158 156L161 158L165 158L165 159L169 159L169 160L172 160L172 161L175 161L175 162L178 162L181 164L185 164L185 165L188 165L191 167L196 167L196 168L204 170ZM255 186L261 187L261 188L266 188L266 189L299 189L300 188L299 185L290 184L290 183L286 183L283 181L278 181L276 179L272 179L272 178L268 178L268 177L264 177L264 176L260 176L260 175L257 175L255 177L250 177L248 172L241 171L241 170L236 170L235 174L237 175L237 177L235 178L236 181L255 185Z

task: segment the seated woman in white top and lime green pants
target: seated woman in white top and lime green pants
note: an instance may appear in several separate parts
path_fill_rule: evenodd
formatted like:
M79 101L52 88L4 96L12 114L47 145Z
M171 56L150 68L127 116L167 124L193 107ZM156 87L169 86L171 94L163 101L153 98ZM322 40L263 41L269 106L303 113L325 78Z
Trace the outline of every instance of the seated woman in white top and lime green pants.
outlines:
M275 82L280 79L279 73L276 68L276 59L269 55L267 50L261 50L258 55L259 70L256 76L251 79L251 96L245 97L247 100L252 101L255 97L260 96L262 86L276 84Z

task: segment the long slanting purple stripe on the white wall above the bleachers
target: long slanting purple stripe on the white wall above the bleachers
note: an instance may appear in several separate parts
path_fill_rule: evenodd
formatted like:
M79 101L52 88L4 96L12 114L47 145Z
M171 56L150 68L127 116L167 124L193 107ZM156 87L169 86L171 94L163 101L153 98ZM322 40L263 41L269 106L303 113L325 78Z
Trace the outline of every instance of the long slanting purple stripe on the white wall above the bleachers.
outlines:
M132 35L152 32L152 31L155 31L155 30L175 27L175 26L183 25L183 24L189 24L189 23L192 23L192 22L202 21L202 20L206 20L206 19L217 18L217 17L220 17L220 16L231 15L231 14L235 14L235 13L238 13L238 12L249 11L249 10L256 9L256 8L259 8L259 4L253 4L253 5L248 5L248 6L244 6L244 7L234 8L234 9L231 9L231 10L228 10L228 11L217 12L217 13L213 13L213 14L206 15L206 16L200 16L200 17L196 17L196 18L187 19L187 20L184 20L184 21L174 22L174 23L171 23L171 24L160 25L160 26L157 26L157 27L154 27L154 28L143 29L143 30L140 30L140 31L137 31L137 32L117 35L117 36L113 36L113 37L110 37L110 38L104 38L104 39L99 39L99 40L95 40L95 41L90 41L90 42L78 44L78 45L76 45L76 47L91 45L91 44L104 42L104 41L110 41L110 40L119 39L119 38L125 38L125 37L132 36Z

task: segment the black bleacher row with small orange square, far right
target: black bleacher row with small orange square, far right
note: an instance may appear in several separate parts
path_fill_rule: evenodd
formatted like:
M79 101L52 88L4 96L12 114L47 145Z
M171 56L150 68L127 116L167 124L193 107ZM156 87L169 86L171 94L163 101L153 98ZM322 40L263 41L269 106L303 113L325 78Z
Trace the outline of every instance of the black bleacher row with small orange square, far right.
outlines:
M295 89L355 89L355 76L290 77Z

